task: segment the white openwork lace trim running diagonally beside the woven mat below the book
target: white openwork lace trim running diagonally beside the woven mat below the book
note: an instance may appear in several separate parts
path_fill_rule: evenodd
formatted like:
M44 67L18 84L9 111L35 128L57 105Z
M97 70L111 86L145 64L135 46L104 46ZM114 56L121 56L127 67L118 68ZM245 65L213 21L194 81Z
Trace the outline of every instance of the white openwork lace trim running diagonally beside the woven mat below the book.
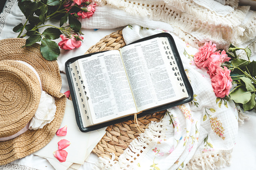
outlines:
M95 169L133 169L133 165L139 162L146 153L153 147L159 138L165 137L166 115L163 119L156 123L151 122L144 133L141 133L138 138L132 140L124 153L119 156L118 161L115 159L115 154L112 154L112 159L108 157L99 157L96 162Z

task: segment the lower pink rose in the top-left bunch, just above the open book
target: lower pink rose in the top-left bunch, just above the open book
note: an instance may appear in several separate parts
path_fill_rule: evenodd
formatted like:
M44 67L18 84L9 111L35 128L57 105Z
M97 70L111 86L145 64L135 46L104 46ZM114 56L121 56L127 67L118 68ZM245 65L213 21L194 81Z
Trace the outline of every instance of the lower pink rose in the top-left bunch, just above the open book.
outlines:
M79 40L83 40L83 37L77 35L75 36L76 37L72 36L71 38L66 38L63 35L60 35L62 41L58 43L58 46L60 46L60 48L63 50L73 50L74 48L80 47L81 42Z

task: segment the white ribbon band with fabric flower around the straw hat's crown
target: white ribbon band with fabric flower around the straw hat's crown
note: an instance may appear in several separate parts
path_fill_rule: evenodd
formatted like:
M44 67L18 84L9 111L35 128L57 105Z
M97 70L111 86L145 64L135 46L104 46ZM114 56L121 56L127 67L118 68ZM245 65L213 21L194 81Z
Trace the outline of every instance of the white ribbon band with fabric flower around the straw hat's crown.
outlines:
M20 63L26 65L36 74L36 76L39 80L40 88L41 88L41 97L40 97L40 101L39 101L36 113L30 120L30 122L28 122L27 125L23 129L21 129L19 132L15 133L11 136L1 137L0 141L6 141L6 140L13 139L13 138L21 135L28 129L36 130L39 128L43 128L44 125L46 125L47 123L50 123L54 119L55 112L56 112L55 99L54 99L54 97L52 97L51 95L49 95L45 91L43 91L40 76L36 72L34 67L32 67L30 64L28 64L24 61L17 61L17 62L20 62Z

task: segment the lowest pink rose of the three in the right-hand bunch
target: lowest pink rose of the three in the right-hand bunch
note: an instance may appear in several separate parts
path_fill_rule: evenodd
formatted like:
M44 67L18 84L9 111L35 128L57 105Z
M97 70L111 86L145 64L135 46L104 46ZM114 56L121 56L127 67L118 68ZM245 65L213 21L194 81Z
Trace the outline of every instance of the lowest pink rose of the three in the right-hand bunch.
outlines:
M224 67L218 67L216 75L212 77L212 88L217 97L225 97L229 94L229 89L232 87L232 79L230 77L230 70Z

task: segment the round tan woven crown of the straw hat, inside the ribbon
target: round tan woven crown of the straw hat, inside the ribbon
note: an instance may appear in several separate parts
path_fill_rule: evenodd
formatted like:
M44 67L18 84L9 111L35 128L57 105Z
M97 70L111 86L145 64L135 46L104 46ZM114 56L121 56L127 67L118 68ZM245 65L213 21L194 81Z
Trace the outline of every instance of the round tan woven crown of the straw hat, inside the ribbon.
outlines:
M35 114L41 90L35 73L14 61L0 61L0 137L20 131Z

